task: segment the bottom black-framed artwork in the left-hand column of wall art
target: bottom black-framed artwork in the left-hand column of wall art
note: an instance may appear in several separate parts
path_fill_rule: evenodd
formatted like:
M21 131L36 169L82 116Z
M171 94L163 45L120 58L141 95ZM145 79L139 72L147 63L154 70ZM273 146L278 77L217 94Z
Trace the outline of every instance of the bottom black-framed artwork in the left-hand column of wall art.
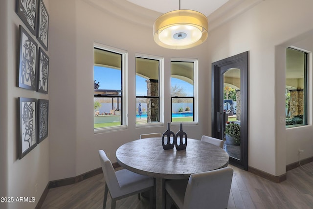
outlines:
M36 103L37 99L19 98L20 103L20 143L19 159L37 146L36 141Z

